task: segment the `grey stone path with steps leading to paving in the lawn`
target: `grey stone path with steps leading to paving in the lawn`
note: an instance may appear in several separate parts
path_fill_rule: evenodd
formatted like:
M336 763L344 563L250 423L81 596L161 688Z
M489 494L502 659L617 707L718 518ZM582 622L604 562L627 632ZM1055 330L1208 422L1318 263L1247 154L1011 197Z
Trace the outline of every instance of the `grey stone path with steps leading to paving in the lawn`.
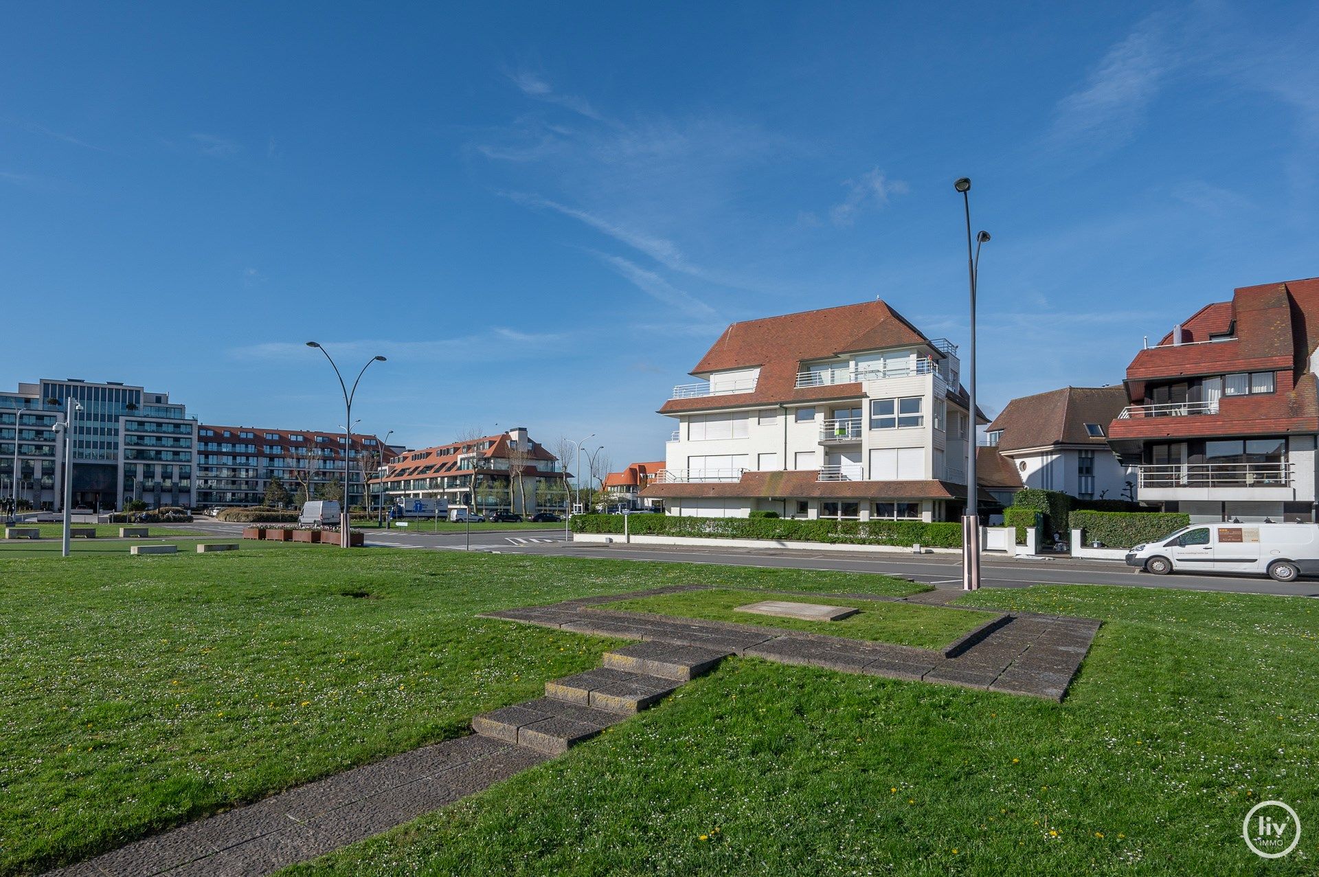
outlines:
M603 603L703 587L653 588L483 615L640 642L604 654L596 670L546 682L543 698L476 716L476 733L470 737L355 768L49 872L47 877L272 874L410 822L565 753L733 654L1062 700L1099 629L1099 621L1091 619L984 612L983 625L944 649L931 650L599 608ZM960 593L934 591L909 601L938 604ZM802 596L901 600L864 593Z

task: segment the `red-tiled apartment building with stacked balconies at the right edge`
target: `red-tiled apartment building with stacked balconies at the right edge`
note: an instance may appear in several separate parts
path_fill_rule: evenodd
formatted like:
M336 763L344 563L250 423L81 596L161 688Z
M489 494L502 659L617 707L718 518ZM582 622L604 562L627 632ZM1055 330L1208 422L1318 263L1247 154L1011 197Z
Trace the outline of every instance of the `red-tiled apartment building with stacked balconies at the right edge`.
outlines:
M1195 522L1314 521L1319 280L1244 286L1126 369L1108 440L1137 496Z

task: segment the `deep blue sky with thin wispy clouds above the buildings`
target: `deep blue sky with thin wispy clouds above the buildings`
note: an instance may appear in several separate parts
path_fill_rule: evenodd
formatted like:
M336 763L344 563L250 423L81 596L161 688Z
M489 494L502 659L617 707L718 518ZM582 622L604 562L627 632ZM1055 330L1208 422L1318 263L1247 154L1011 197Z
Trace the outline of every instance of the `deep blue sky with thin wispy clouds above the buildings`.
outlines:
M0 381L203 421L596 433L729 322L885 298L989 413L1319 274L1312 4L26 4L0 33ZM476 8L477 5L483 8Z

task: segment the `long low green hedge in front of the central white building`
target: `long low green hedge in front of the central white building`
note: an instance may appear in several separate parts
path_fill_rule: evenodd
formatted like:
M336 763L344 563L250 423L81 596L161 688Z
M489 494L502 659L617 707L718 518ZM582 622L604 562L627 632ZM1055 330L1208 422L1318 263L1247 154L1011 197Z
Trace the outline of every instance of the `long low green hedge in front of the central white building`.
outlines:
M707 539L786 539L834 545L925 545L962 547L960 524L922 521L801 521L793 518L696 518L632 514L633 535L683 535ZM621 514L574 514L574 533L623 534Z

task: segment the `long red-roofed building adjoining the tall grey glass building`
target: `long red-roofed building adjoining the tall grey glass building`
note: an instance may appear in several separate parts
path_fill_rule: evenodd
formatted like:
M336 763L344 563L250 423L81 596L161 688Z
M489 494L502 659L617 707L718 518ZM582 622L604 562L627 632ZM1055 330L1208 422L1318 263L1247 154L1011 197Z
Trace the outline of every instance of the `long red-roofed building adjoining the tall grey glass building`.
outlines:
M364 485L396 451L375 435L203 423L197 437L197 502L203 506L251 506L265 501L276 479L290 496L321 496L344 483L348 505L365 505Z

